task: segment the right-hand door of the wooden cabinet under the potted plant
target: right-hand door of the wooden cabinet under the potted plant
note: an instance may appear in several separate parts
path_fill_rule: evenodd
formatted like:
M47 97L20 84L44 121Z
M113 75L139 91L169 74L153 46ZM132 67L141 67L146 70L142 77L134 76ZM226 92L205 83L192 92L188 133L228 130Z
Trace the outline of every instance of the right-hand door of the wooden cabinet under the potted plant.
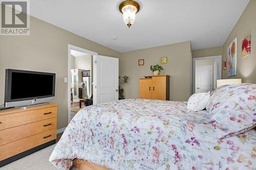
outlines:
M166 76L152 77L152 99L166 100Z

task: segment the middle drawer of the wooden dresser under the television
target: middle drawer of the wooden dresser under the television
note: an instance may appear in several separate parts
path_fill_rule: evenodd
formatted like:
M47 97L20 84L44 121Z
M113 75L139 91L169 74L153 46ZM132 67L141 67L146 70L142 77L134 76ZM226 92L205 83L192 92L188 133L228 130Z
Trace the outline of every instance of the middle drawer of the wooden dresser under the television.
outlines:
M57 128L56 117L0 131L0 145Z

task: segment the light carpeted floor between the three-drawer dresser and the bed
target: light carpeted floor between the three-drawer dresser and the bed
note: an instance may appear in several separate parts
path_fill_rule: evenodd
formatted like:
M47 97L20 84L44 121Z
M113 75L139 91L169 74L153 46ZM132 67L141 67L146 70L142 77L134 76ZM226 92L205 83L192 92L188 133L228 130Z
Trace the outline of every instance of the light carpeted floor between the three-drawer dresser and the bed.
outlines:
M57 168L49 162L49 157L55 147L51 145L22 159L0 167L1 170L56 170Z

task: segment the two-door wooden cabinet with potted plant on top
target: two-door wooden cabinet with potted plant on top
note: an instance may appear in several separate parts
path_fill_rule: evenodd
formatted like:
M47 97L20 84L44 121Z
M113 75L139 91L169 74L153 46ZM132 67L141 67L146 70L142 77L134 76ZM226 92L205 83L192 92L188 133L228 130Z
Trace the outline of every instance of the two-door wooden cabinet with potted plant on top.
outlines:
M140 99L169 100L169 75L144 76L140 83Z

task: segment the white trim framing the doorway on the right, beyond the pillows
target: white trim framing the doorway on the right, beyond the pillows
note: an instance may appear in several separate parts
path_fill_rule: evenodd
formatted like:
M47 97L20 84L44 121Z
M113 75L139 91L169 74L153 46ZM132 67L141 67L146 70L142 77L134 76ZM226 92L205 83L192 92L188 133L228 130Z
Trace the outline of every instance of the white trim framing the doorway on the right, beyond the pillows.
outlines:
M217 61L217 68L218 68L218 74L216 76L216 79L221 79L221 70L222 70L222 56L210 56L210 57L198 57L193 58L193 82L192 82L192 89L193 94L195 93L195 87L196 87L196 61L197 60L209 60L209 59L215 59Z

